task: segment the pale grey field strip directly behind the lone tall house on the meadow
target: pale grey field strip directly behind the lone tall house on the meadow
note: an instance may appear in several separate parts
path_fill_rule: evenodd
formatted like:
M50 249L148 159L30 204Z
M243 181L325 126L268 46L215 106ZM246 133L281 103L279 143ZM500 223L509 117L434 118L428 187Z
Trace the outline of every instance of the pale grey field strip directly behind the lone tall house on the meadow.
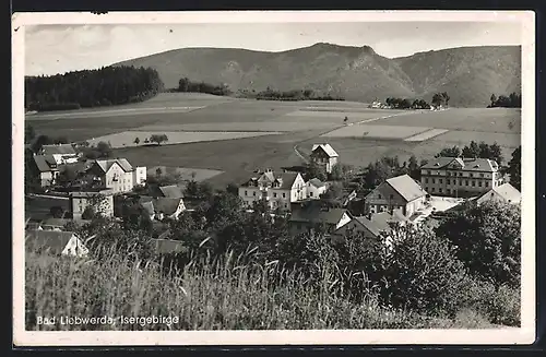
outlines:
M343 127L329 133L322 134L321 136L395 140L405 139L429 130L430 128L425 127L357 124Z

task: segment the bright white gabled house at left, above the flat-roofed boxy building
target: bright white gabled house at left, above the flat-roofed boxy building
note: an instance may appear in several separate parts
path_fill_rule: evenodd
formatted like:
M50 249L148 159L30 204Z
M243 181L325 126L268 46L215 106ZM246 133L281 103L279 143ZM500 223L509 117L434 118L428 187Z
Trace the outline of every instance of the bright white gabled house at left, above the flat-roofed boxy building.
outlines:
M114 193L129 192L146 182L146 167L133 167L126 158L97 159L87 174L97 186L112 189Z

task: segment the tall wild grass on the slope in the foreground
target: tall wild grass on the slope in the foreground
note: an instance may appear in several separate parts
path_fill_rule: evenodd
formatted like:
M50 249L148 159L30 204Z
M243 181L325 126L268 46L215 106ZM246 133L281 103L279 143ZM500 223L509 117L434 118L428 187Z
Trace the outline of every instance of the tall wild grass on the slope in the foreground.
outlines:
M276 271L275 271L276 270ZM157 265L128 257L104 261L26 253L26 330L305 330L483 329L479 313L434 319L383 308L372 294L359 304L333 294L328 282L311 286L295 271L237 265L229 258L168 276ZM281 273L273 285L272 273ZM61 317L169 317L173 324L60 324ZM56 317L56 325L37 318ZM178 321L176 321L178 319ZM127 322L127 321L126 321Z

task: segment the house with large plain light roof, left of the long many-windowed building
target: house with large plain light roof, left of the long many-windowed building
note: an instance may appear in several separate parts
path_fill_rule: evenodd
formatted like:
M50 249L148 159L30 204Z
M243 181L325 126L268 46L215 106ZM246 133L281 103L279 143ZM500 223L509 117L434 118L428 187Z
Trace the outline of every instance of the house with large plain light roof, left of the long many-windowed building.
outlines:
M425 206L427 192L408 175L387 179L365 198L366 213L401 210L410 217Z

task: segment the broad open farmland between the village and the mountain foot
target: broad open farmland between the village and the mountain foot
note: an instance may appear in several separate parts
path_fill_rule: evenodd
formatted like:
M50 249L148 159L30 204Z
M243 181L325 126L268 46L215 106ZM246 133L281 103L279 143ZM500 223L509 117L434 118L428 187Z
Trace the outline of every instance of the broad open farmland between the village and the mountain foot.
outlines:
M497 142L508 160L520 145L521 133L519 109L382 110L352 102L268 102L201 94L161 94L138 105L37 114L27 120L40 134L109 141L120 147L116 156L134 165L222 171L206 179L218 188L246 180L257 168L301 165L295 147L308 153L318 142L329 142L342 162L357 166L383 155L428 158L471 140ZM152 133L166 133L169 140L145 146L143 141ZM136 136L139 147L133 144Z

